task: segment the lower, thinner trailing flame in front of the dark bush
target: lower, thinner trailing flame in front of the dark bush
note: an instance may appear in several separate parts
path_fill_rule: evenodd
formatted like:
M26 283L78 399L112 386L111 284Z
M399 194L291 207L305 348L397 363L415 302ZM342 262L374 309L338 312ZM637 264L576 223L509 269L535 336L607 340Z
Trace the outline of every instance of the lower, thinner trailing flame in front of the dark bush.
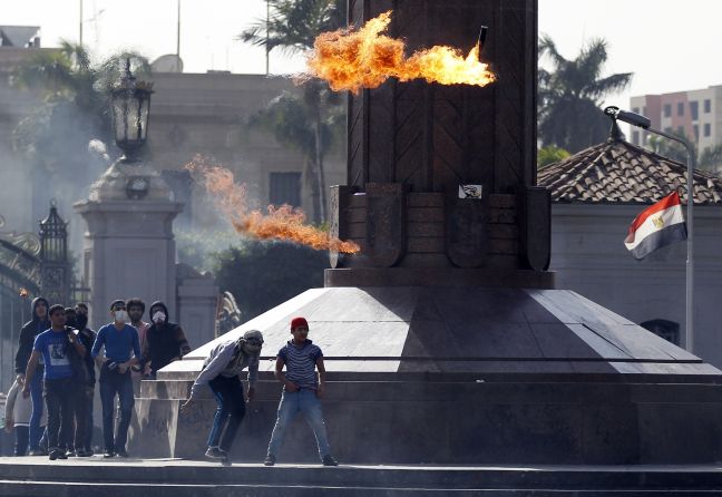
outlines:
M236 184L233 173L224 167L208 166L202 157L196 156L185 168L205 186L218 208L241 234L258 240L300 243L316 251L332 250L352 254L361 250L353 242L335 238L318 227L305 224L306 216L300 208L270 205L265 214L258 209L250 209L245 185Z

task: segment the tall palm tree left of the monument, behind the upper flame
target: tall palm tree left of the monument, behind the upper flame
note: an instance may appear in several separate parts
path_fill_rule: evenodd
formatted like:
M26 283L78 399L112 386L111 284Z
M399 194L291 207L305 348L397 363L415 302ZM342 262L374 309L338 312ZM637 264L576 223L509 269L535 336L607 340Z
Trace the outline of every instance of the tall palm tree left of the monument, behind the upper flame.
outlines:
M324 31L334 31L345 26L345 0L266 0L269 19L260 20L240 36L245 42L266 48L266 52L279 49L287 53L311 50L315 38ZM291 104L296 99L295 104ZM313 192L314 221L326 220L326 188L323 158L330 149L333 133L326 129L339 124L341 98L334 95L324 81L312 79L304 84L303 96L282 95L275 103L261 111L256 124L274 133L277 139L301 149L306 164L313 165L313 173L306 178ZM289 111L287 116L279 113ZM273 117L272 117L273 116ZM290 125L291 119L296 119ZM280 126L274 129L273 126ZM304 127L313 133L313 140L297 140L287 135L289 126ZM285 137L285 138L284 138ZM303 144L303 145L302 145Z

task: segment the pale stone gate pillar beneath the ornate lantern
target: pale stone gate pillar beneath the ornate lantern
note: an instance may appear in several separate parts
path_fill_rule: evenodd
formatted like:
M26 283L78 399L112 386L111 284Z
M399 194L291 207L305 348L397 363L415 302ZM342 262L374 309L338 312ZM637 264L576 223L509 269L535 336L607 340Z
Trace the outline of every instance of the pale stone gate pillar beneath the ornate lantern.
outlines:
M115 299L162 300L176 321L173 220L183 209L159 173L142 162L111 165L75 204L87 223L84 271L90 286L90 323L109 322ZM144 316L147 320L147 316Z

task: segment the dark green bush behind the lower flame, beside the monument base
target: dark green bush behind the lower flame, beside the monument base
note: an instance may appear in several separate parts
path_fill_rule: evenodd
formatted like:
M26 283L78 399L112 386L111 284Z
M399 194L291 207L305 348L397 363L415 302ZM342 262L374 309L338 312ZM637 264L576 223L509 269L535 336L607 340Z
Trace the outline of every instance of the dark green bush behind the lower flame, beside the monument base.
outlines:
M247 241L214 260L218 286L233 293L244 321L323 286L323 270L329 266L326 252L282 242Z

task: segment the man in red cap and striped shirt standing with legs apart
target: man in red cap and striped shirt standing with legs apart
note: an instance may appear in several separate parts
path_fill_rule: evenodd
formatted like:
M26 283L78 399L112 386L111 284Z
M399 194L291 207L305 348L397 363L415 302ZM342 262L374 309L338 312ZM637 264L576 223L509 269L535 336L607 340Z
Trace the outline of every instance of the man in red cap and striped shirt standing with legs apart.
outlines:
M276 357L275 377L283 383L283 393L279 405L279 417L269 444L269 454L263 464L266 466L275 464L286 427L295 415L303 412L319 444L319 456L323 466L339 466L331 456L323 411L319 400L323 397L325 382L323 352L319 345L308 339L309 322L305 318L291 320L291 334L293 334L293 340L289 341ZM285 373L283 372L284 366ZM319 370L318 376L316 369Z

